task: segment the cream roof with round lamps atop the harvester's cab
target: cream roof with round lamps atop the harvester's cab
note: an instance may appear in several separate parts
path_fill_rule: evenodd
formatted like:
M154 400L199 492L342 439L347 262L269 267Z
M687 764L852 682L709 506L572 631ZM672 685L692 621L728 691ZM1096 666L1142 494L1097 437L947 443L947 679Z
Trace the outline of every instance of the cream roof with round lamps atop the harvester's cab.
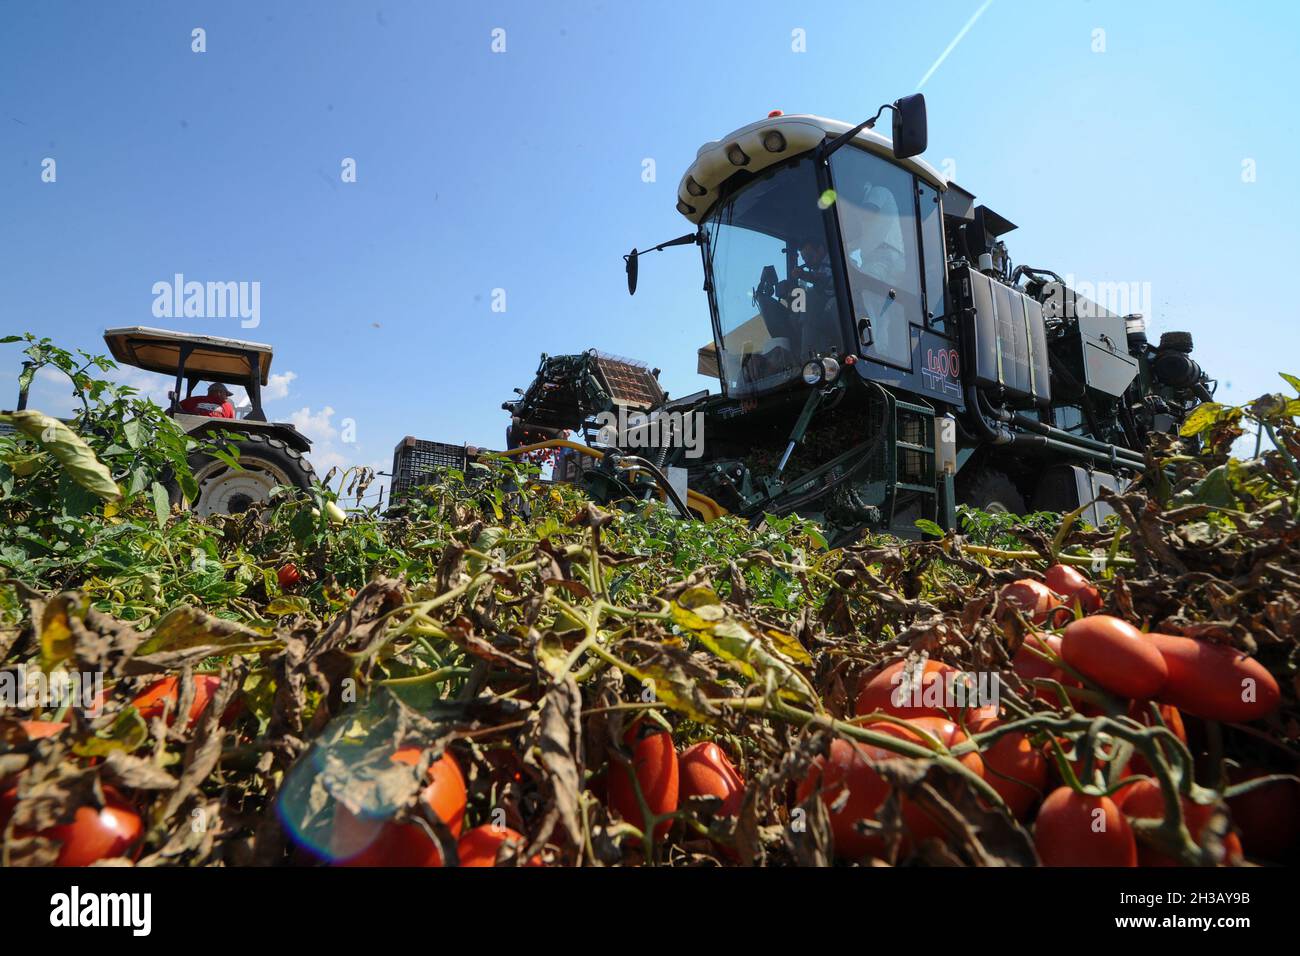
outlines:
M757 173L760 169L788 160L798 153L807 152L827 137L838 137L853 129L855 124L841 122L840 120L827 120L822 116L793 114L770 116L749 126L741 126L734 133L729 133L719 140L705 143L696 153L696 161L677 183L677 211L692 222L699 222L718 202L718 187L738 172L738 168L727 159L727 151L732 146L738 146L745 151L749 163L744 166L746 172ZM779 152L770 152L763 146L763 137L771 130L780 130L785 137L785 148ZM853 138L853 142L870 152L884 156L890 163L897 163L905 169L915 173L937 190L948 189L948 179L932 165L920 159L896 159L893 147L885 137L875 130L862 130ZM705 189L703 195L692 195L686 189L686 182L694 179L697 187ZM698 189L697 189L698 191Z

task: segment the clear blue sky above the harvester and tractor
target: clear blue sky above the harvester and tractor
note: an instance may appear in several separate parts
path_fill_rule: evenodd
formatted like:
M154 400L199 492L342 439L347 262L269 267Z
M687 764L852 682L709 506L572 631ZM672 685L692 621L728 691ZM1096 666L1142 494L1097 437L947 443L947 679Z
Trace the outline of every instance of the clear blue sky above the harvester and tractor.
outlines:
M1282 389L1291 3L4 0L0 332L270 342L268 412L317 466L386 470L406 434L499 446L542 351L636 356L682 394L707 385L698 255L647 258L629 298L621 254L686 232L696 150L770 109L864 118L982 9L924 83L926 159L1019 225L1015 261L1149 290L1150 325L1193 333L1221 398ZM156 319L176 273L260 282L260 325ZM0 350L0 406L17 364ZM32 405L64 392L42 381Z

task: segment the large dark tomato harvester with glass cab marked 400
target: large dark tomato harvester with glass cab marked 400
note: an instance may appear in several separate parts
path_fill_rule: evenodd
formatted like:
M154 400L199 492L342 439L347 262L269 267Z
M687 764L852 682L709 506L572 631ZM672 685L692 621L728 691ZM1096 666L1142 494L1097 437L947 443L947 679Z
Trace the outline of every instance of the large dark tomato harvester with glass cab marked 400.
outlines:
M720 392L670 399L640 363L543 355L503 405L507 454L554 450L602 499L798 512L835 542L953 528L957 503L1100 524L1101 489L1216 382L1188 333L1153 345L1141 315L1013 265L1015 226L919 159L926 140L916 94L855 126L777 111L706 143L677 189L693 230L624 260L634 293L645 252L698 248L697 368Z

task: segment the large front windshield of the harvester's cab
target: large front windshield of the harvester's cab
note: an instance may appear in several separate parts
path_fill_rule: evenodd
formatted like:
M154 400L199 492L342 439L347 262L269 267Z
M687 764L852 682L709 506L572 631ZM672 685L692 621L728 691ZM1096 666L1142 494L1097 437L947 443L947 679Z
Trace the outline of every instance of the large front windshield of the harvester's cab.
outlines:
M763 173L705 222L718 376L729 395L785 385L844 354L835 273L811 157Z

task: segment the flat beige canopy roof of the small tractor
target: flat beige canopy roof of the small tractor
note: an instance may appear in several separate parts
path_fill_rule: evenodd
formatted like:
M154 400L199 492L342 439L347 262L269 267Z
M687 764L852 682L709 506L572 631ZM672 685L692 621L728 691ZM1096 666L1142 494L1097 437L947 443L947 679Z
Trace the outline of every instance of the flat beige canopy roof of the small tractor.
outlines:
M181 364L181 347L194 351L185 360L186 376L225 385L247 385L256 369L263 385L270 375L270 346L261 342L243 342L221 336L188 336L183 332L150 329L131 325L107 329L104 342L113 358L124 365L134 365L148 372L176 375Z

